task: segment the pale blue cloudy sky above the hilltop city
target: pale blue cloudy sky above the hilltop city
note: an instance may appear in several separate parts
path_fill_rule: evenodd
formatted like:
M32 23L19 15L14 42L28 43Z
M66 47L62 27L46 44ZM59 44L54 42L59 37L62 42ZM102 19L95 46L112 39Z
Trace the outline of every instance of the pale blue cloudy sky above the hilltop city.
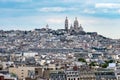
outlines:
M86 32L120 39L120 0L0 0L0 29L64 28L75 17Z

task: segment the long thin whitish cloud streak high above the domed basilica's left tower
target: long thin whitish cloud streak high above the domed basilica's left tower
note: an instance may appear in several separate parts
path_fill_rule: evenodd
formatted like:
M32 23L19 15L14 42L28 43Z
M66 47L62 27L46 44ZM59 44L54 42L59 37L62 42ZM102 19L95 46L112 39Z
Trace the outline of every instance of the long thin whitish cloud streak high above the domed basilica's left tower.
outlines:
M38 9L41 12L64 12L64 11L71 11L76 10L76 8L65 8L65 7L43 7Z

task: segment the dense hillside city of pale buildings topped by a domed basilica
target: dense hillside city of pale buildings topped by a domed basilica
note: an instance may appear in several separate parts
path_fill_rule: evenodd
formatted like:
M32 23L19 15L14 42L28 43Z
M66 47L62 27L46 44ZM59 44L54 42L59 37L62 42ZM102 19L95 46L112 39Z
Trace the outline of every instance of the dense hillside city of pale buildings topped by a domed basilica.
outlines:
M0 80L120 80L120 39L63 24L0 30Z

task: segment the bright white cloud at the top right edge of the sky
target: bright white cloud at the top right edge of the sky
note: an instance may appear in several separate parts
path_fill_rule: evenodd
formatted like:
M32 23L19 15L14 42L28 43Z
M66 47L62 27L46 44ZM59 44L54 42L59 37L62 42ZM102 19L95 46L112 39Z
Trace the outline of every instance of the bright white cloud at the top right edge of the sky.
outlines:
M119 3L96 3L95 8L109 8L109 9L120 8L120 4Z

